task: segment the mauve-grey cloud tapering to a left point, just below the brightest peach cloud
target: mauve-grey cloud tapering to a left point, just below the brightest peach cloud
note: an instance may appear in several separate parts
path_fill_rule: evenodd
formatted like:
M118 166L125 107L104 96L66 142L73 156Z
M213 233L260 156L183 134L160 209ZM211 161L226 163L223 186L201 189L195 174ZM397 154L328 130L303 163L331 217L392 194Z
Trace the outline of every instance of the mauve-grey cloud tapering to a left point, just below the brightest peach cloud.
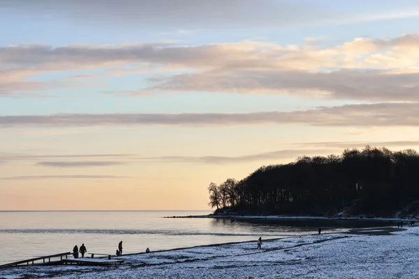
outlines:
M349 100L418 101L419 74L340 70L329 73L278 70L235 70L232 73L182 74L138 91L206 91L278 93ZM135 93L133 91L132 93Z

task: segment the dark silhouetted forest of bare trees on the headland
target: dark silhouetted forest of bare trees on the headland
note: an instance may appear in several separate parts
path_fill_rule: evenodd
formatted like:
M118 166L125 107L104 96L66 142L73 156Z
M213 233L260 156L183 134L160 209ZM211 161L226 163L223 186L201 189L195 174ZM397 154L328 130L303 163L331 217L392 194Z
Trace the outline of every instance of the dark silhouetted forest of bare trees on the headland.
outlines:
M419 209L419 154L365 146L341 155L299 157L244 179L210 183L215 213L395 216Z

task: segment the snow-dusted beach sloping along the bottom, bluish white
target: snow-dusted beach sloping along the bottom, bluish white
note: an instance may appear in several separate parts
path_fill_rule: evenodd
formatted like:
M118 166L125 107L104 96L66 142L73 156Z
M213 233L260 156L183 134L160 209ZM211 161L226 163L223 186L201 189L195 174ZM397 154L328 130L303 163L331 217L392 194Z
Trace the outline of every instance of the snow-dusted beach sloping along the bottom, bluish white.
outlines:
M186 236L187 237L187 236ZM418 278L419 227L355 229L124 255L120 266L24 266L0 278Z

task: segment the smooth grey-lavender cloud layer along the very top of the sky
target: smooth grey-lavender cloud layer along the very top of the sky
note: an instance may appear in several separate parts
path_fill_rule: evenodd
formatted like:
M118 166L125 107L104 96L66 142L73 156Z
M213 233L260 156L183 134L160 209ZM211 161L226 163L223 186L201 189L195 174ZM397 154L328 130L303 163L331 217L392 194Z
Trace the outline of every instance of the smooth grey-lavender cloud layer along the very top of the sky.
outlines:
M353 3L355 2L355 3ZM417 17L419 9L412 3L374 6L369 11L362 1L341 3L332 8L328 1L311 0L2 0L3 12L33 20L70 20L115 28L147 29L254 29L318 26L374 22ZM362 6L351 12L353 6ZM256 12L257 11L257 12Z

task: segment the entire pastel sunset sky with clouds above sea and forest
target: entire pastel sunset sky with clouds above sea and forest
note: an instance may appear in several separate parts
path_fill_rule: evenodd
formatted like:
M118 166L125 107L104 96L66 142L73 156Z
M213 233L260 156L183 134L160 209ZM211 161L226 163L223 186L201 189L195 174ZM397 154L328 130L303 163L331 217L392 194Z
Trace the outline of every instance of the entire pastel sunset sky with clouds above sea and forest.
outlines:
M0 210L208 210L207 187L419 147L419 2L0 1Z

